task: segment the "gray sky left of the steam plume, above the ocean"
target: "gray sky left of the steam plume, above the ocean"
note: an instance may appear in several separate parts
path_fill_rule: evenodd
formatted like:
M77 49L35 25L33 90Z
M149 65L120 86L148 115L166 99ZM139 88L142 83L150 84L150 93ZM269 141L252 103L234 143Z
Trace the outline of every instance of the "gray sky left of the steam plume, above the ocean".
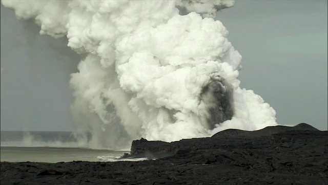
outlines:
M39 35L1 5L1 130L72 131L70 73L80 60L67 41Z

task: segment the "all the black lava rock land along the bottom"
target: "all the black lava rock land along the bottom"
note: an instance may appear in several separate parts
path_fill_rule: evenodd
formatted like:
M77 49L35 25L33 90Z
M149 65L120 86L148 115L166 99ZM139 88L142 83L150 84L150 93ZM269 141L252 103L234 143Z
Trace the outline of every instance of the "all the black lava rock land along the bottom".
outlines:
M328 184L328 131L229 129L171 143L135 140L117 162L1 162L1 184Z

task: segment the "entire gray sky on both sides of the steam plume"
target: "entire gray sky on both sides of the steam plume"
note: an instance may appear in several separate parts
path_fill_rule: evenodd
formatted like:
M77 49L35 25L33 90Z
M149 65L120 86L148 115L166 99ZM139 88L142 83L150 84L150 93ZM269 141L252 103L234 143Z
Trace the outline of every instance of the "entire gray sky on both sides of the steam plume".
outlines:
M327 1L236 1L218 13L242 57L241 87L278 124L327 130ZM80 60L66 39L39 35L1 5L1 130L72 131L69 75Z

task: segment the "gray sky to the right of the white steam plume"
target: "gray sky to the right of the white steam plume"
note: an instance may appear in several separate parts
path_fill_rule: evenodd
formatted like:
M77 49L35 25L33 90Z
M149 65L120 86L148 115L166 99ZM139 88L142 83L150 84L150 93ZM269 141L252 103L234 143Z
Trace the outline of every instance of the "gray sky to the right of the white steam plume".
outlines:
M217 18L242 55L240 86L269 103L278 124L327 130L327 1L236 1Z

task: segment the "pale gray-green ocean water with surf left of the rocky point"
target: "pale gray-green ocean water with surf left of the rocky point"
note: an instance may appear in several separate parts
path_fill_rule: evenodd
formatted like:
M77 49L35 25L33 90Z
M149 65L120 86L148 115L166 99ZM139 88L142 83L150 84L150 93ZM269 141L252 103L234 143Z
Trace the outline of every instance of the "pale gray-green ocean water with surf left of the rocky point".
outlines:
M8 162L117 161L130 152L88 149L71 132L1 131L0 134L0 160Z

